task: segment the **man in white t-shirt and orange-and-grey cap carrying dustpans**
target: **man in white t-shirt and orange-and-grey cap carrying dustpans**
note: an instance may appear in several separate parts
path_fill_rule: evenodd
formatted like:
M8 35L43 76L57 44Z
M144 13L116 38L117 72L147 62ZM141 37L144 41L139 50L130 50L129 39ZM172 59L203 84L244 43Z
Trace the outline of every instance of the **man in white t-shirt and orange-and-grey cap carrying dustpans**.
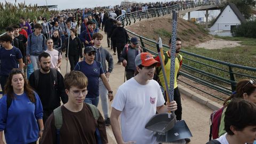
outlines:
M112 103L111 127L117 143L156 143L154 132L145 129L149 119L158 113L177 109L172 101L164 105L159 84L153 80L158 62L150 53L140 53L135 58L138 75L119 86ZM121 115L121 131L118 117Z

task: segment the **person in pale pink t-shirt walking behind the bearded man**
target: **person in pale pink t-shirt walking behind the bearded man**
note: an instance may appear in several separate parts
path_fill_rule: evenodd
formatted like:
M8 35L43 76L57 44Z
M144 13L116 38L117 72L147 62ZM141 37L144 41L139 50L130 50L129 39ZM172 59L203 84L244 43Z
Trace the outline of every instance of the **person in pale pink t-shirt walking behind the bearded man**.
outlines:
M51 68L55 68L60 72L61 53L53 49L53 41L51 38L46 39L47 50L45 52L51 55Z

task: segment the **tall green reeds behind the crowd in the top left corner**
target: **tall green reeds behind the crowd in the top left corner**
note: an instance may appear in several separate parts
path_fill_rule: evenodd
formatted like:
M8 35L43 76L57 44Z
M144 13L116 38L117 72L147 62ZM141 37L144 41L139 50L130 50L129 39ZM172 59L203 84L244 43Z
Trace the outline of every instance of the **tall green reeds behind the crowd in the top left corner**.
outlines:
M26 5L24 3L18 3L18 5L12 3L0 2L0 34L4 33L5 27L19 23L19 18L30 18L31 22L41 15L42 17L50 18L51 13L55 11L49 11L48 9L38 9L37 5Z

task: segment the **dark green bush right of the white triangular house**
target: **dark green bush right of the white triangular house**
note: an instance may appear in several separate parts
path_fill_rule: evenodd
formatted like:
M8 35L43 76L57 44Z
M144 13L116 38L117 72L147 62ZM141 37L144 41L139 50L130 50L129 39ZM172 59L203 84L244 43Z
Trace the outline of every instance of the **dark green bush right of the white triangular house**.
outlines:
M233 35L236 37L256 38L256 20L241 23L235 28Z

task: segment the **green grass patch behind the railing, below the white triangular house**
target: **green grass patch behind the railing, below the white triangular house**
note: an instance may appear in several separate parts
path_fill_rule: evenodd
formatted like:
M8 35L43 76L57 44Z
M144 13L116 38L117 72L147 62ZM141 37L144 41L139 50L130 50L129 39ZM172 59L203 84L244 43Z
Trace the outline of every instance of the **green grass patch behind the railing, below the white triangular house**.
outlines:
M242 65L242 66L247 66L247 67L256 67L256 39L255 38L242 38L242 37L215 37L215 38L222 38L226 39L229 41L241 41L242 46L237 46L237 47L230 47L230 48L225 48L225 49L218 49L218 50L207 50L207 49L198 49L196 47L183 47L182 49L191 53L196 53L198 55L203 55L204 57L207 58L212 58L212 59L217 59L220 61L225 61L228 63L234 63L236 65ZM213 66L214 68L210 68L201 64L198 64L196 62L192 62L189 60L184 60L183 62L186 63L187 65L198 68L204 71L207 71L208 73L218 75L223 78L230 79L229 73L226 73L225 71L222 70L227 70L229 71L229 67L225 65L220 65L219 63L212 62L209 60L204 60L201 58L196 58L191 55L181 53L183 57L193 59L195 61L203 62L206 63L207 65ZM218 70L215 68L220 68L222 70ZM251 70L244 70L240 68L233 68L233 71L235 73L241 73L241 74L246 74L250 76L256 75L255 71ZM248 78L240 75L235 74L235 80L238 81L241 78ZM207 78L211 81L215 81L212 78Z

